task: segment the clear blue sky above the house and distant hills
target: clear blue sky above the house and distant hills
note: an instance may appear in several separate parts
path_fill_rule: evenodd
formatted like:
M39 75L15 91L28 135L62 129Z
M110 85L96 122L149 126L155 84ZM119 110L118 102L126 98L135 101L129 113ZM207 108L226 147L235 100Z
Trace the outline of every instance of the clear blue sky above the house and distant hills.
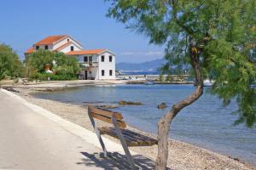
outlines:
M163 58L164 47L106 17L108 5L104 0L1 0L0 43L24 59L26 49L44 37L69 35L84 49L113 51L117 63Z

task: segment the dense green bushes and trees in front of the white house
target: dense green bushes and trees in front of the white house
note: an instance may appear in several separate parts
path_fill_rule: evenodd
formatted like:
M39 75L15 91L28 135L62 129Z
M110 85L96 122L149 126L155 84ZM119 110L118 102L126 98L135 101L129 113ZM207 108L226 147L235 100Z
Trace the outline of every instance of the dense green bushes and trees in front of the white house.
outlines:
M25 63L27 76L40 80L73 80L80 71L77 59L49 50L39 49L26 55ZM50 65L55 74L46 74L45 65Z

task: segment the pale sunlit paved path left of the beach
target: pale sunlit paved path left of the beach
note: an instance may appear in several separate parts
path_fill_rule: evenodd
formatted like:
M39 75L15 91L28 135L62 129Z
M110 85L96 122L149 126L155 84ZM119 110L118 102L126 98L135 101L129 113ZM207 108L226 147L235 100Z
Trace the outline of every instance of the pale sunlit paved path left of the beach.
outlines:
M0 170L103 169L82 154L96 151L101 150L0 90Z

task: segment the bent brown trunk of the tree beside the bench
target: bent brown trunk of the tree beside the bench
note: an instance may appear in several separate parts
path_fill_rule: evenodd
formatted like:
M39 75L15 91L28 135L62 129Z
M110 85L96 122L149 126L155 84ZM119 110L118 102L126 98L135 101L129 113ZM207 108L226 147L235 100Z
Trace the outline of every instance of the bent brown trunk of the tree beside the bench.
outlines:
M160 119L158 122L158 156L156 159L155 170L165 170L168 159L168 134L170 131L170 125L172 119L177 116L177 113L181 111L187 105L195 102L203 94L203 78L201 75L200 59L197 51L193 51L193 46L190 46L190 62L195 72L195 91L190 94L186 99L177 102L172 105L172 110L168 111L167 114Z

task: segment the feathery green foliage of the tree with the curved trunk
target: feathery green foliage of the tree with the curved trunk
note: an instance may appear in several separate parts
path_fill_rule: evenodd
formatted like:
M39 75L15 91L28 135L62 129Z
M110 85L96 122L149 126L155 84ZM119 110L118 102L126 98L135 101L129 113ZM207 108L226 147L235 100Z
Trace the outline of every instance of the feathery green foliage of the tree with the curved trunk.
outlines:
M163 71L191 68L200 57L204 77L215 80L212 94L228 105L236 99L239 122L256 122L255 0L108 0L108 16L149 42L166 45ZM178 71L177 71L178 72Z

